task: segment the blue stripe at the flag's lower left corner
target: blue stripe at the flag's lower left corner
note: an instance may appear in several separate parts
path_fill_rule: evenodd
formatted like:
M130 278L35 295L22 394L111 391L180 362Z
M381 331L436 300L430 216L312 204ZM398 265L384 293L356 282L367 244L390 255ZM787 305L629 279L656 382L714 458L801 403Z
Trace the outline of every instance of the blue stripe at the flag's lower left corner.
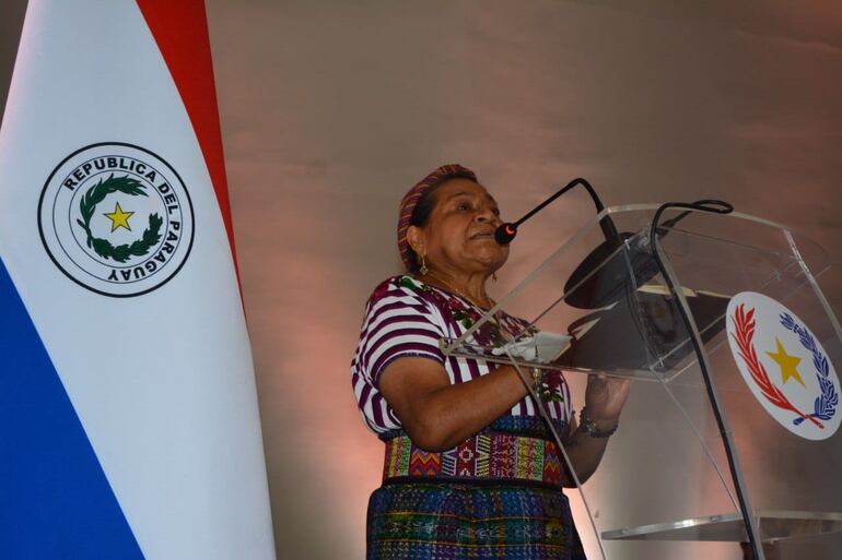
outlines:
M2 260L0 558L143 558Z

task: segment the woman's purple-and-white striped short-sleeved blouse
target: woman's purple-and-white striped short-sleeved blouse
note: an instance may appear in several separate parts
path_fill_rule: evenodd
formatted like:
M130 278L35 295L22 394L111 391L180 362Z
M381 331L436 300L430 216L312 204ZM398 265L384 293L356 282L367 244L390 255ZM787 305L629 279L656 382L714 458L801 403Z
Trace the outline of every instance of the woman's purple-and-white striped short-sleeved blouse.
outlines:
M369 298L360 342L351 361L351 383L360 413L370 429L377 433L400 428L400 420L379 392L383 371L391 361L404 357L424 357L440 362L451 383L464 383L484 376L496 365L470 358L445 357L438 349L442 337L456 338L478 321L483 310L467 299L424 284L411 276L395 276L377 286ZM506 332L517 334L527 323L505 313L499 314ZM499 344L503 341L492 324L480 327L468 342ZM569 421L570 390L561 372L547 376L545 385L553 395L545 402L554 419ZM537 416L531 397L512 407L514 416Z

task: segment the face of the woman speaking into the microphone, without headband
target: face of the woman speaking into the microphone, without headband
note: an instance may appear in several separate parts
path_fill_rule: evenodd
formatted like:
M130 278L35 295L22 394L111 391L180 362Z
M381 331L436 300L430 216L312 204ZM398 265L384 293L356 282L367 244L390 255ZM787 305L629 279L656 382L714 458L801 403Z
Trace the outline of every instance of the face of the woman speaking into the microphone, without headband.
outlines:
M505 263L508 246L494 241L494 230L502 224L500 211L482 186L451 179L433 196L429 222L409 233L410 245L416 253L425 255L428 266L491 274Z

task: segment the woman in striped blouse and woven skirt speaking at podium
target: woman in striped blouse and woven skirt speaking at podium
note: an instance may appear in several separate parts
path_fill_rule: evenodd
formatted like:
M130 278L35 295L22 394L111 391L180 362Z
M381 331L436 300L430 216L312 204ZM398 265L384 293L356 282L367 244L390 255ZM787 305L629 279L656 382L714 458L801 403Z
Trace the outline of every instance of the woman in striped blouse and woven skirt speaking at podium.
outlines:
M383 485L367 514L367 558L584 559L561 453L545 408L581 480L617 429L625 380L592 376L578 421L561 372L536 376L535 403L512 366L446 357L493 307L486 283L505 264L494 240L496 202L459 165L435 169L404 196L398 249L407 274L369 298L351 364L365 424L386 444ZM502 345L527 327L504 312L473 333Z

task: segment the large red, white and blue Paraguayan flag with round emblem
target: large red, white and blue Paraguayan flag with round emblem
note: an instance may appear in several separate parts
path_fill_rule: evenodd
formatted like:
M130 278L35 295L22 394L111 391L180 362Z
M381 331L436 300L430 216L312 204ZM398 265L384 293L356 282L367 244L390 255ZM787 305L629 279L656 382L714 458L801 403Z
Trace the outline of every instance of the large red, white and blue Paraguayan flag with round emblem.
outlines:
M30 0L0 129L0 558L274 557L201 0Z

